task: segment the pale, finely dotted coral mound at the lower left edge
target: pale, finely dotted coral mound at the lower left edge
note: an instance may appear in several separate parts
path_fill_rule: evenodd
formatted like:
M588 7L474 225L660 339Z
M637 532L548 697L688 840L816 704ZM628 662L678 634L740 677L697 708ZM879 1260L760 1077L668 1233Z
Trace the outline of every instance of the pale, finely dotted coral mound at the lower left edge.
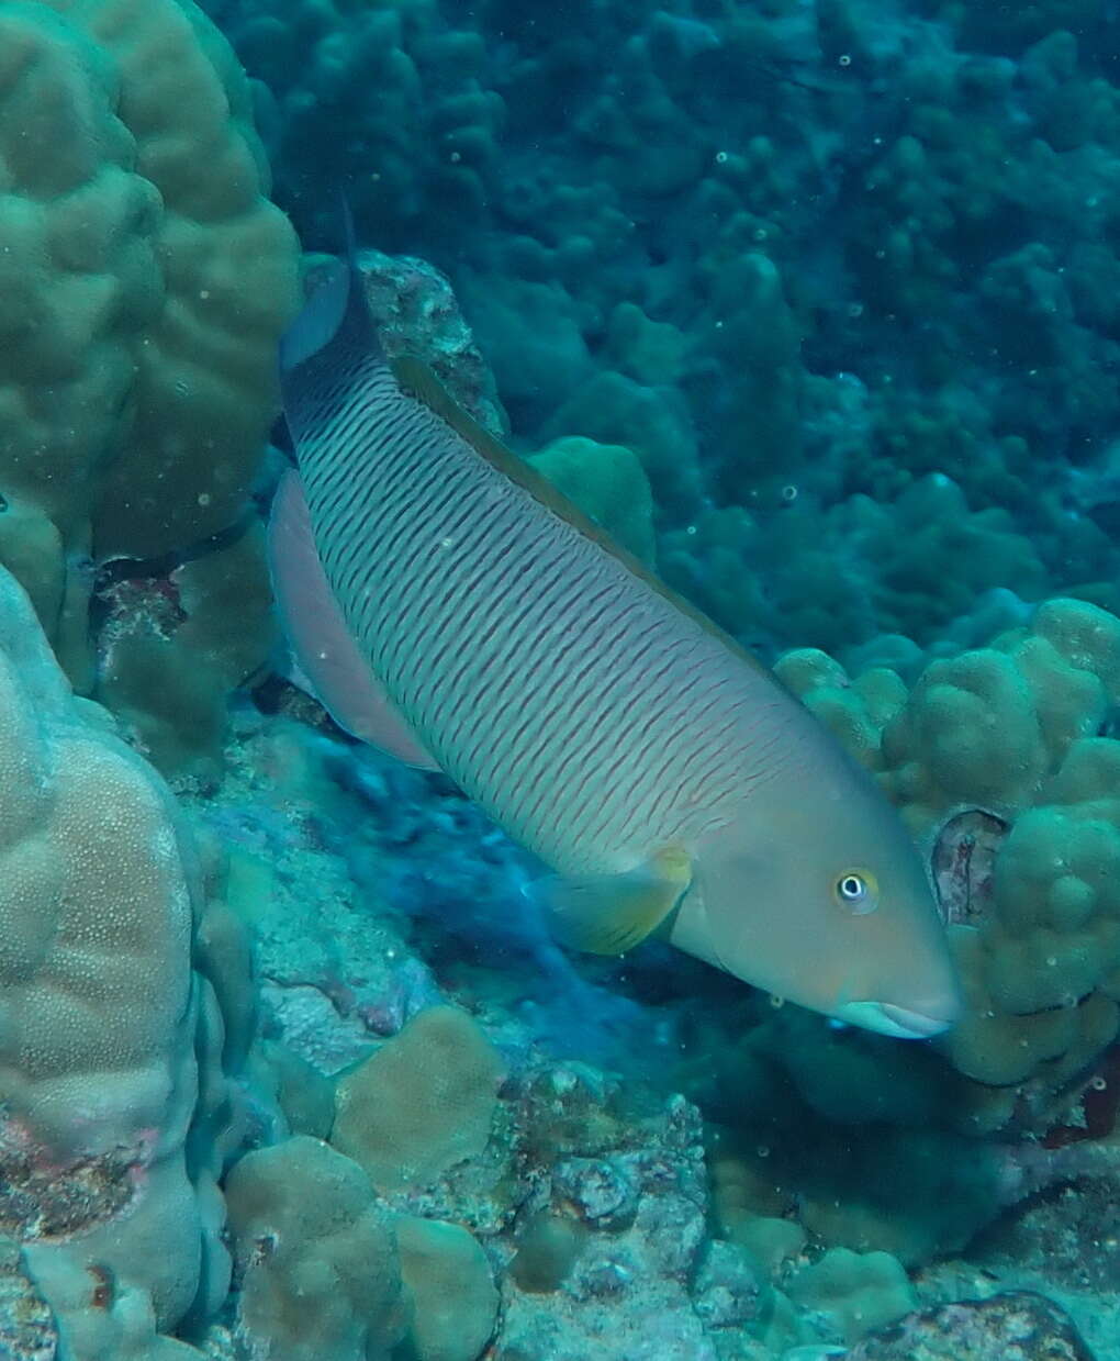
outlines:
M193 851L159 777L71 695L7 572L0 712L4 1234L61 1354L162 1357L155 1330L229 1278L220 1200L201 1147L188 1155L200 1028L220 1025L192 969Z

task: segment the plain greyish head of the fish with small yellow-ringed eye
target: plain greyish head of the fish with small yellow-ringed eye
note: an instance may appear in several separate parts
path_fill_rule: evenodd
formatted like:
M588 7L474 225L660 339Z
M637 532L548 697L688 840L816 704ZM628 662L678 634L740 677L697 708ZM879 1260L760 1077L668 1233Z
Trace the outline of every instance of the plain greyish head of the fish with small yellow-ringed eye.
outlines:
M838 750L773 780L701 840L674 940L777 998L882 1034L928 1038L961 1013L917 849Z

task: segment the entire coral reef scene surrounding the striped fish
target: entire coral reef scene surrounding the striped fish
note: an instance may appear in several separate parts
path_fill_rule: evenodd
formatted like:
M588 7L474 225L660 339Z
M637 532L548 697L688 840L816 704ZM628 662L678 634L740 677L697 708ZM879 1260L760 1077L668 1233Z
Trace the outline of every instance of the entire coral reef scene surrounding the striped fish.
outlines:
M386 348L871 770L965 1015L652 942L291 679ZM1113 0L0 0L0 1358L1120 1361Z

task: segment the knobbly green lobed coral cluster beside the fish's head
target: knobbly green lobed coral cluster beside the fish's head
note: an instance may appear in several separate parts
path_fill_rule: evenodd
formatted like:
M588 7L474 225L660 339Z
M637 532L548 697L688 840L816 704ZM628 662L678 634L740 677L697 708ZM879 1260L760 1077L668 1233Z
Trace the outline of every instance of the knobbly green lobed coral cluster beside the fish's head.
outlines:
M1045 1124L1120 1025L1120 742L1098 736L1120 690L1120 621L1047 602L1027 627L934 661L905 700L887 672L849 683L812 657L778 671L929 853L962 808L1008 825L991 870L978 855L959 867L976 881L968 920L950 923L969 1006L939 1047L977 1085L961 1119Z

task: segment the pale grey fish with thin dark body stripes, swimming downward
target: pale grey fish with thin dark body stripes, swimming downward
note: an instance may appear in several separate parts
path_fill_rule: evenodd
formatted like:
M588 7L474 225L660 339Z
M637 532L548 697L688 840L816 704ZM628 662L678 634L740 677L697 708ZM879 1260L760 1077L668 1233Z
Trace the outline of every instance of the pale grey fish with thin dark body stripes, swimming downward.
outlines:
M445 772L542 862L566 943L657 936L900 1038L954 1023L934 891L871 774L423 365L386 358L352 245L283 338L280 389L295 468L269 561L301 668L343 727Z

